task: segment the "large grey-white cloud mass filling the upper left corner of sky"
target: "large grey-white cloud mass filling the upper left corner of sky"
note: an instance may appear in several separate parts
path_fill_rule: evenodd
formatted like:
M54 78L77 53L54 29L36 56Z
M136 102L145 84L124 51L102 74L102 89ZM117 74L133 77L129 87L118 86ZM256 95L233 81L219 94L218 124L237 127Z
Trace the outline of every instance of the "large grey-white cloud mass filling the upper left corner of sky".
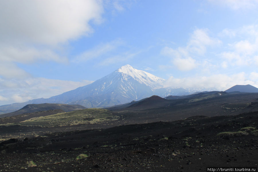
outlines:
M0 76L28 74L15 63L68 63L60 52L69 42L93 32L100 23L102 1L0 1ZM90 24L91 23L91 24Z

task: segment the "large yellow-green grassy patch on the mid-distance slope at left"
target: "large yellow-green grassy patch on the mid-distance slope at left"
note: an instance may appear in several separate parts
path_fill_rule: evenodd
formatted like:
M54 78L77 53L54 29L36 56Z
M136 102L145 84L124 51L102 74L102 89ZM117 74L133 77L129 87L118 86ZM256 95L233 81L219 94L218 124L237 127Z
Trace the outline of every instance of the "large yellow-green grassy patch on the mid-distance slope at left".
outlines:
M119 116L113 115L109 110L92 108L40 116L22 121L19 124L24 126L60 127L78 124L105 123L118 119Z

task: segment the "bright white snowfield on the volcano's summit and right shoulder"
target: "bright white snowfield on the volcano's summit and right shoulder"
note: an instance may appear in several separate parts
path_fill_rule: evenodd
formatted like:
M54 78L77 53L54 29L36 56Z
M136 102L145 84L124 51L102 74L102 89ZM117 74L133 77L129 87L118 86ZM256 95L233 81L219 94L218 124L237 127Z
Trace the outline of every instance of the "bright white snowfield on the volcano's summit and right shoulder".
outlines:
M134 69L129 64L120 67L116 72L122 73L124 78L131 76L139 83L145 84L152 88L163 87L163 82L165 81L164 79L156 77L155 75L152 75L148 72Z

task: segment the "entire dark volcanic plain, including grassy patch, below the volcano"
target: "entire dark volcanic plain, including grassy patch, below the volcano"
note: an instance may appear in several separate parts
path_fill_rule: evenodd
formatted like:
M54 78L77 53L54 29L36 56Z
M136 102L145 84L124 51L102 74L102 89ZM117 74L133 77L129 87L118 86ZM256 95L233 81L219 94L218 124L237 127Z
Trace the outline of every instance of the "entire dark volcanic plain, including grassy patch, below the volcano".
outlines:
M151 96L0 118L0 171L206 171L258 163L258 94Z

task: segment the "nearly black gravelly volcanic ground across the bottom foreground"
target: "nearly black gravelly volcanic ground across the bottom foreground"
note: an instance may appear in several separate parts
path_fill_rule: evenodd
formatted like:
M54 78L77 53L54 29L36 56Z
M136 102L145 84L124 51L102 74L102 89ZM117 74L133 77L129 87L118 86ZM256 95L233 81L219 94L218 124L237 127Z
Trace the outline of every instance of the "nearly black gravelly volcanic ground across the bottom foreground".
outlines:
M0 144L0 171L206 171L208 166L255 167L257 128L258 112L251 112L58 132L24 141L13 139ZM88 157L76 159L79 154ZM29 167L29 161L36 166Z

